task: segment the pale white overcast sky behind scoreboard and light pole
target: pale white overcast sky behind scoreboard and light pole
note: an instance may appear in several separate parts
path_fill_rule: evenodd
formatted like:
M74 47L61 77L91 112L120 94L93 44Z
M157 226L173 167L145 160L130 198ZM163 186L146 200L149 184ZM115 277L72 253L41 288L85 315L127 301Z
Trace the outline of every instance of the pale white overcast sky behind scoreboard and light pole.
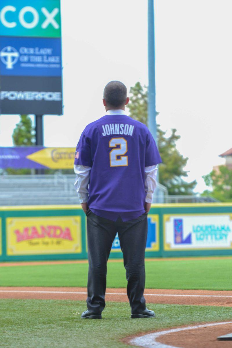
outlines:
M232 147L231 0L155 0L157 122L177 129L189 157L187 181L201 178ZM44 117L44 143L75 147L104 114L103 88L148 83L146 0L61 0L64 115ZM0 117L0 146L11 146L18 116Z

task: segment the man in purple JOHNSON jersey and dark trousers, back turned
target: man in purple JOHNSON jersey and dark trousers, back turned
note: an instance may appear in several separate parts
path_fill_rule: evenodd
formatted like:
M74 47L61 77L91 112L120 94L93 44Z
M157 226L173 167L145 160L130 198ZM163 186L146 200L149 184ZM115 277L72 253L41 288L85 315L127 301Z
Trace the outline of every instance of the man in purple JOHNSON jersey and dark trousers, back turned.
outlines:
M88 297L81 318L101 319L106 263L118 232L127 278L131 318L151 318L145 306L144 257L147 213L156 187L157 146L148 128L125 114L126 86L104 89L106 114L86 126L77 144L75 187L87 215Z

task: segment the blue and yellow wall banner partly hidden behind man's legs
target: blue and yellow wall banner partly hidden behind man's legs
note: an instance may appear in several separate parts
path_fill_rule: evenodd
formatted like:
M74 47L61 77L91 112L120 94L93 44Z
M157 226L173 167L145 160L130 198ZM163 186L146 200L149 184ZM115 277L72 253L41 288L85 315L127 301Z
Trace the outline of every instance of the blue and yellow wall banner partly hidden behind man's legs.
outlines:
M149 214L147 218L147 242L146 251L159 251L159 215ZM112 252L121 251L118 234L114 238Z

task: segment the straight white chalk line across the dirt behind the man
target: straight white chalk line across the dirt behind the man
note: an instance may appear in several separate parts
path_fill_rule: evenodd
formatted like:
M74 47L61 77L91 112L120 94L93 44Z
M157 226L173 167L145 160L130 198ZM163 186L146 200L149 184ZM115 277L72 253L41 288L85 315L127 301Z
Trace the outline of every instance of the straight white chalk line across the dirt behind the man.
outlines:
M51 291L51 290L0 290L1 292L12 293L35 293L35 294L87 294L87 292L81 291ZM126 293L107 292L106 295L126 295ZM228 298L232 295L183 295L183 294L144 294L145 296L174 296L174 297L223 297Z

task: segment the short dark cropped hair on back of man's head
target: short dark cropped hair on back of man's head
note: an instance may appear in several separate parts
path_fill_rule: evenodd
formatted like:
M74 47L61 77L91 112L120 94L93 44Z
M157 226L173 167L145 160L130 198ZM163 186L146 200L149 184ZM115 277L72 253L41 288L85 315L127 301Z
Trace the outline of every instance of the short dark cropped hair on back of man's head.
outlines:
M127 87L120 81L110 81L104 88L103 97L106 105L118 108L126 103Z

